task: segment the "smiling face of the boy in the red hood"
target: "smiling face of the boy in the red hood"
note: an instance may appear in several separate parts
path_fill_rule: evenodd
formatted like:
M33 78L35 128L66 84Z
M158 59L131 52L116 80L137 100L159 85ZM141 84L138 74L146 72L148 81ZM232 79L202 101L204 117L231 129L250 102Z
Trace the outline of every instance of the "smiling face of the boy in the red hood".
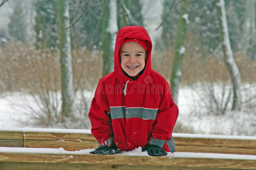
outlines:
M122 44L119 56L121 67L128 75L135 76L144 69L147 53L138 42L128 41Z

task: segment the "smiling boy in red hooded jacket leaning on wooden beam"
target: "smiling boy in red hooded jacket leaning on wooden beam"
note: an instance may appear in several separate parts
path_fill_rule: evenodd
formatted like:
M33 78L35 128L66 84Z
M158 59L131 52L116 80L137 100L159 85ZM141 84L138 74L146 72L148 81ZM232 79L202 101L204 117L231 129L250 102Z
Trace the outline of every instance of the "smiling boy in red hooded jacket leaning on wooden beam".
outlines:
M100 79L89 118L98 148L92 154L117 154L142 147L151 156L175 151L171 138L177 115L171 89L151 69L152 43L146 29L121 28L114 71Z

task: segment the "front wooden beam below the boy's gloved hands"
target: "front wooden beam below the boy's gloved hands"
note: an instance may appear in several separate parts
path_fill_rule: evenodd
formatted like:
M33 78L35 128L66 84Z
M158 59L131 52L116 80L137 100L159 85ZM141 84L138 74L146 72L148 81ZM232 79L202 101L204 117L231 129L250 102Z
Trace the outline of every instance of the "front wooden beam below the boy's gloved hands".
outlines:
M255 169L256 160L221 158L172 158L169 156L129 156L90 154L23 154L0 153L0 162L74 163L108 165L142 165L155 167L199 167Z

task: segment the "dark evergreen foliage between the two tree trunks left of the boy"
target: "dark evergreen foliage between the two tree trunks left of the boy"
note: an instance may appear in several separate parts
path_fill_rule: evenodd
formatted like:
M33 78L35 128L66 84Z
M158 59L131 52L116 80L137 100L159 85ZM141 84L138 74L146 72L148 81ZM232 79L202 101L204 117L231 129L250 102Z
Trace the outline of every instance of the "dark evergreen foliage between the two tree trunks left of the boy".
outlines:
M69 1L69 13L71 23L82 13L88 0ZM84 15L73 27L71 27L72 46L86 49L100 49L102 41L102 0L90 1L86 7Z

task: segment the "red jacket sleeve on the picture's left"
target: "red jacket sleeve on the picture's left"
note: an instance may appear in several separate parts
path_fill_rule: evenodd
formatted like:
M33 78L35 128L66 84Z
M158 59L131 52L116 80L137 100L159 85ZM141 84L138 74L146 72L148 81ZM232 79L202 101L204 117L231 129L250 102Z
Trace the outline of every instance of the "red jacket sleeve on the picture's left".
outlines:
M98 141L98 146L113 144L113 128L111 125L108 98L104 83L98 83L89 111L89 119L92 124L92 134Z

